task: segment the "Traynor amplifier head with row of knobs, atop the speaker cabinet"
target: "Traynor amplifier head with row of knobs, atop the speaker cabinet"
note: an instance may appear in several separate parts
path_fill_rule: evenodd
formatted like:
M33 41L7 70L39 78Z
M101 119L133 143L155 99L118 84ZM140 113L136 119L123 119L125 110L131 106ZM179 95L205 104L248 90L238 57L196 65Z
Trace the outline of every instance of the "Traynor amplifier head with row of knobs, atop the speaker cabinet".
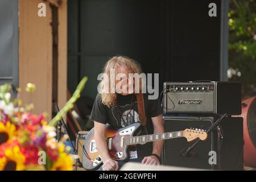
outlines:
M241 114L241 82L164 82L164 113Z

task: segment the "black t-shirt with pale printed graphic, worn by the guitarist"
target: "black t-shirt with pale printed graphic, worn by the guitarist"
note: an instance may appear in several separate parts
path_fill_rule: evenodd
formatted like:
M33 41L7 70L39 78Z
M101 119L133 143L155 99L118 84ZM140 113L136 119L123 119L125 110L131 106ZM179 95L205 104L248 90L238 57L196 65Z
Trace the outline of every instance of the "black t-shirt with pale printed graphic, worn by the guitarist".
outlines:
M148 94L143 94L144 98L144 110L147 117L146 131L148 134L154 133L154 127L152 125L151 117L156 117L162 113L162 108L160 105L159 98L156 100L148 100ZM131 100L132 94L127 96L122 96L117 94L117 106L108 107L102 103L101 95L97 94L94 101L92 113L90 114L90 119L100 122L109 123L110 126L121 128L125 127L133 122L139 121L139 112L137 97L134 95L133 109L131 110ZM122 118L121 118L122 113ZM138 156L146 156L152 154L152 142L146 144L138 144L136 146Z

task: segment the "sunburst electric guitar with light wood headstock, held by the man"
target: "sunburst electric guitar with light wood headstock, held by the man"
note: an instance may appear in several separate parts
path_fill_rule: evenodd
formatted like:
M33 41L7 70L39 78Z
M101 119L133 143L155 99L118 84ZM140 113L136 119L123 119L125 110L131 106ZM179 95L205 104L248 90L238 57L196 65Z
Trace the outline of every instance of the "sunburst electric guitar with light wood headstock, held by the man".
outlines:
M185 137L188 142L200 138L207 139L207 133L204 130L185 129L183 131L172 131L160 134L139 135L135 134L141 130L143 126L140 122L132 123L129 126L115 130L109 125L106 126L105 138L109 150L110 158L114 160L124 160L129 156L127 147L136 144L145 144L156 140L172 139ZM101 166L101 156L97 151L96 140L94 138L94 129L90 130L85 140L83 147L85 159L83 159L83 166L86 170L95 170Z

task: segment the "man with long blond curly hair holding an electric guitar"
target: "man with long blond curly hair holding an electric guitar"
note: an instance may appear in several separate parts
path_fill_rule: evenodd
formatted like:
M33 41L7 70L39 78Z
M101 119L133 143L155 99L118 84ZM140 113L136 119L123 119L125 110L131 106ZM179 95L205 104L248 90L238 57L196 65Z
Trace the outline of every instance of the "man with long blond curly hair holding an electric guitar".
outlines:
M90 115L90 119L94 121L97 150L103 162L100 170L118 170L126 162L160 164L163 140L130 147L130 157L125 161L117 162L110 158L104 137L107 123L112 127L121 128L134 122L141 122L136 93L143 93L144 113L147 121L144 131L147 134L164 133L160 100L159 98L150 100L148 97L150 94L142 92L146 90L145 82L134 76L141 75L141 73L141 66L137 61L126 56L114 56L105 64L104 77L98 86L99 93Z

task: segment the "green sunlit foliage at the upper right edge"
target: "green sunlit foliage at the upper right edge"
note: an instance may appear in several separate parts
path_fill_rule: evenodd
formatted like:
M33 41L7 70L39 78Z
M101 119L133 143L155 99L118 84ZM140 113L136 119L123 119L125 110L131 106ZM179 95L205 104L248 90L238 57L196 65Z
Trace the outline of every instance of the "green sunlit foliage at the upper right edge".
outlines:
M241 81L243 95L256 86L256 1L230 0L229 7L229 68L241 72L231 81Z

